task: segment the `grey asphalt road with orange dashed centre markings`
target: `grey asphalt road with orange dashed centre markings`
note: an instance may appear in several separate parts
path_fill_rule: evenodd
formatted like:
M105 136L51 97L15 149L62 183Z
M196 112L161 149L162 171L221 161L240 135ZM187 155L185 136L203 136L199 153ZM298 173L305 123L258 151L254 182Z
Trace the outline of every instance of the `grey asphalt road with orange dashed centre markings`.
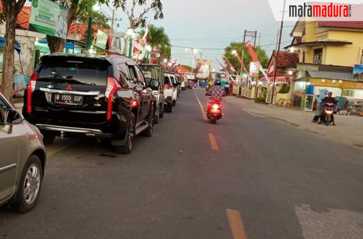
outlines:
M0 238L363 238L363 150L228 98L213 125L196 96L205 108L203 90L181 93L128 156L92 139L58 140L37 207L1 208Z

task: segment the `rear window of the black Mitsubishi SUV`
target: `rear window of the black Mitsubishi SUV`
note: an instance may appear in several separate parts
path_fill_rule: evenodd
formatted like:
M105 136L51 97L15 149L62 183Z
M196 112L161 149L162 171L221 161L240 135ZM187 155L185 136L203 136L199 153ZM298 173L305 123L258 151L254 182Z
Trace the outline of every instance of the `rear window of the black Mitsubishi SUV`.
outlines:
M109 65L108 61L99 59L47 57L42 60L38 81L64 79L78 84L106 86Z

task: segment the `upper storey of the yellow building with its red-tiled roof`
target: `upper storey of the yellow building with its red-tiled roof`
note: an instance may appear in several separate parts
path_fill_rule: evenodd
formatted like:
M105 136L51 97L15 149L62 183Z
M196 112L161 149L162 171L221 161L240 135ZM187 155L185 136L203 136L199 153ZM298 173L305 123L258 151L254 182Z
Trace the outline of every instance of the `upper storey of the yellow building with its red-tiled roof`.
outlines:
M290 50L300 52L300 63L350 66L363 64L363 22L296 22Z

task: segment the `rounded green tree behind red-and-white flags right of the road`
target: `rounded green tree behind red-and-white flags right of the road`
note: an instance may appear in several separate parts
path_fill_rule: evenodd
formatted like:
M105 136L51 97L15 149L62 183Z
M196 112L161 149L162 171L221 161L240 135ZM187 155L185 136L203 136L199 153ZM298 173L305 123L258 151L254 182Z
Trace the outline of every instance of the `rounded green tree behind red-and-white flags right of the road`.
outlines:
M237 72L241 73L241 63L238 61L238 59L232 54L232 50L236 50L238 55L242 57L243 47L244 43L242 42L231 42L229 46L227 46L224 50L224 55L229 60L229 62L233 65L233 67L236 69ZM259 58L262 67L266 68L267 64L269 64L269 58L266 55L266 52L261 47L256 47L255 52L257 54L257 57ZM252 61L252 57L250 53L248 52L247 46L245 48L244 54L243 54L243 64L245 67L250 64ZM227 63L227 62L226 62Z

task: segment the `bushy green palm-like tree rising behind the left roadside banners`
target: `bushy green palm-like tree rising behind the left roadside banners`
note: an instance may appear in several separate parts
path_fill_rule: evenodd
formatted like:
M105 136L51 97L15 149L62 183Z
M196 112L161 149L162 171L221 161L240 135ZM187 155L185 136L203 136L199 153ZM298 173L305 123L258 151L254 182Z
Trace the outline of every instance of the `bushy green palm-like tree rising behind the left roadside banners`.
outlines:
M145 30L140 32L140 37L143 37ZM172 55L172 47L170 44L170 38L165 33L164 27L150 26L148 33L148 42L153 49L157 48L160 54L163 54L166 58L170 58Z

